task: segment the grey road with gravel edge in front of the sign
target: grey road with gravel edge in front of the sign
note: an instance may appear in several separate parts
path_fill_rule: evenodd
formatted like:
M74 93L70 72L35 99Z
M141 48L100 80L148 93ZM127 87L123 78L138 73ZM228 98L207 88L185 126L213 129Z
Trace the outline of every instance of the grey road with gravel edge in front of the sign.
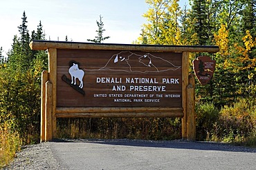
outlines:
M5 169L256 169L256 148L184 140L55 140L24 147Z

